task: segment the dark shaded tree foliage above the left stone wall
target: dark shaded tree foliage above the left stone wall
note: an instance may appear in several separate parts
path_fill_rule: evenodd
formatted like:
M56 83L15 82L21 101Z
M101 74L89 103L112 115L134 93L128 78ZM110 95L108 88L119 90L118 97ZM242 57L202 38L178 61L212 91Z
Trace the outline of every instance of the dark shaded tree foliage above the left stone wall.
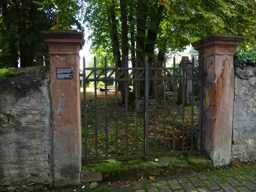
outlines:
M36 53L48 47L39 31L67 29L77 25L80 4L76 0L1 0L0 1L0 68L32 66Z

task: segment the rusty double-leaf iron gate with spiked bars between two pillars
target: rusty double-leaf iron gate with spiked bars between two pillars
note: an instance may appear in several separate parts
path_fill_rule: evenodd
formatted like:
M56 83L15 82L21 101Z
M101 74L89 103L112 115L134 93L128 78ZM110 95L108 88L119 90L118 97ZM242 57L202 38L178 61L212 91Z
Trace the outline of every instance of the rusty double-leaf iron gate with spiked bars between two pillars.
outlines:
M175 58L168 67L165 62L157 67L156 61L149 67L147 57L143 67L135 63L128 67L126 59L126 66L118 67L116 60L108 67L105 58L104 67L97 67L94 57L94 66L85 68L83 58L85 164L201 149L203 58L201 66L194 59L191 66L185 59L176 66Z

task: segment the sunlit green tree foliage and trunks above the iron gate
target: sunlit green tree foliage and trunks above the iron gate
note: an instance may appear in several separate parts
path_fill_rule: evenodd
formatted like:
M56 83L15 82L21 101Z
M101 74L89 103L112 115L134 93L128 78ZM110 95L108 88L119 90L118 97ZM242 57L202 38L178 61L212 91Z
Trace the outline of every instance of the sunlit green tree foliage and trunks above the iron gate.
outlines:
M245 36L256 44L255 0L85 0L85 22L93 53L107 52L124 65L131 60L162 57L213 33ZM149 62L149 63L150 63Z

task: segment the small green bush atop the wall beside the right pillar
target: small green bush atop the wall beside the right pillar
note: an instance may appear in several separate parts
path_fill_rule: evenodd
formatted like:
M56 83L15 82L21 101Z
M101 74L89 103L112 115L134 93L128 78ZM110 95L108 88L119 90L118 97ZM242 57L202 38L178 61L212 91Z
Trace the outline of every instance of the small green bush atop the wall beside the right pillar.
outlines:
M243 69L245 65L254 65L256 64L256 51L253 48L249 48L248 51L244 51L237 47L236 53L234 56L235 66Z

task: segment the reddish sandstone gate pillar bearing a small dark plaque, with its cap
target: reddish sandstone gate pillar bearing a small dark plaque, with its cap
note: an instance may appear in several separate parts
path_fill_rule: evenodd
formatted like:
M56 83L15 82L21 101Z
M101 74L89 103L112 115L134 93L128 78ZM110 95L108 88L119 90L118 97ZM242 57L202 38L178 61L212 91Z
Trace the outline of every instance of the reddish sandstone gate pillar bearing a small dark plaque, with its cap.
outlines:
M41 32L49 46L54 187L81 184L82 137L79 51L82 32Z

